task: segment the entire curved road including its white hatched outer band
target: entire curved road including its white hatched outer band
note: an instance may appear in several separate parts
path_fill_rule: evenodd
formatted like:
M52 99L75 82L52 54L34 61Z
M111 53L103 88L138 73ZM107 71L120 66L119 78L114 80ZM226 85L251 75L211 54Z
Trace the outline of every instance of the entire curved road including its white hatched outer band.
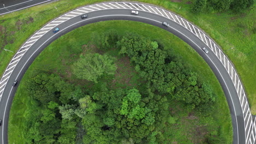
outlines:
M139 15L132 15L131 9L138 10ZM88 18L81 19L80 15L83 13L87 13ZM1 143L8 143L9 112L17 89L17 87L12 87L13 82L15 80L21 81L22 76L39 53L61 35L89 23L107 20L131 20L149 23L177 35L193 47L211 67L223 88L232 118L233 143L254 143L255 125L245 92L235 69L223 52L216 48L217 45L198 28L177 15L149 5L124 2L101 3L71 11L51 21L27 40L11 60L0 81L0 119L3 119L0 130ZM162 26L163 21L170 23L170 27ZM52 30L55 27L58 27L60 31L54 34ZM203 52L202 47L207 47L209 53ZM241 95L243 96L241 97Z

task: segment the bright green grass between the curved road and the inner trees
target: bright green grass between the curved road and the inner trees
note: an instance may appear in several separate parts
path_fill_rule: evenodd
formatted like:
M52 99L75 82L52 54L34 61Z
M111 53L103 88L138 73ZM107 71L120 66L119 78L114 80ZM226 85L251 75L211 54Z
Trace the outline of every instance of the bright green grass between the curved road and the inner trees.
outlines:
M103 33L104 31L107 31L107 29L113 28L116 29L120 35L124 35L127 32L138 33L144 37L156 40L166 47L170 47L173 49L173 52L181 56L182 61L190 65L190 67L200 75L201 80L211 83L211 86L218 97L215 106L216 110L213 115L215 122L214 125L216 125L216 127L217 125L220 127L219 133L223 135L223 137L226 137L228 143L232 142L231 117L222 88L220 87L219 82L217 81L210 67L208 67L206 62L203 61L203 59L193 50L193 48L184 43L184 41L181 39L177 38L175 35L145 23L132 21L104 21L77 28L68 34L63 35L46 47L46 49L40 53L40 55L32 63L30 68L26 71L24 78L20 82L18 92L14 97L13 106L11 107L9 121L9 143L24 142L24 138L19 137L19 133L26 133L26 131L22 131L22 125L20 125L26 109L23 104L25 102L22 103L22 101L26 101L27 99L26 92L22 91L24 81L26 81L28 77L39 73L38 71L51 71L52 73L62 75L63 78L67 77L67 79L73 83L84 83L84 81L76 80L75 76L71 74L70 65L72 65L72 63L79 57L81 53L86 51L84 45L87 45L90 41L90 37L88 37L88 35L91 35L91 33L95 31L98 33ZM117 51L113 50L109 51L108 55L115 56L116 53ZM129 69L132 71L132 68L125 69L124 65L124 63L120 63L119 67L123 68L124 71ZM136 82L137 78L138 77L135 76L131 82ZM121 86L121 84L119 86ZM173 103L173 105L174 104L175 103ZM188 113L186 115L188 115ZM182 117L186 116L182 115L180 118ZM12 120L14 118L19 119L19 122L14 122ZM178 121L179 124L182 124L181 119ZM190 126L193 125L191 122L188 122ZM200 122L203 123L203 119L200 119ZM200 125L200 122L197 124ZM179 132L182 133L182 131L186 130L185 128L186 127L183 125L179 129ZM175 128L173 128L173 130L174 129ZM171 133L171 131L169 132ZM168 134L170 134L169 132ZM180 136L182 135L177 135L176 139L182 139Z

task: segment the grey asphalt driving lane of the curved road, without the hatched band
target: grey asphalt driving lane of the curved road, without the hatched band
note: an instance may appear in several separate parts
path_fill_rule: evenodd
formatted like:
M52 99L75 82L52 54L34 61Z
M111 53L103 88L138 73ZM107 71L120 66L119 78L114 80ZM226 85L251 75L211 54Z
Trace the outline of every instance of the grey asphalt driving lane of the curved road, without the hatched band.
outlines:
M30 64L39 55L39 53L42 52L46 46L52 43L55 39L59 38L61 35L89 23L107 20L131 20L149 23L150 25L158 26L177 35L177 37L181 38L191 47L193 47L211 67L223 88L232 118L233 143L245 143L245 124L243 122L242 108L236 93L236 89L230 79L228 72L216 57L216 55L214 55L211 50L208 50L208 54L203 52L201 48L207 47L207 45L203 43L202 40L197 38L195 34L191 33L188 31L188 29L185 29L181 25L178 25L176 22L168 20L166 17L145 11L139 11L139 15L132 15L131 10L129 9L106 9L92 11L91 13L88 13L87 19L81 19L80 16L76 16L66 22L61 23L58 26L60 28L59 32L55 34L52 31L45 33L40 39L36 41L36 43L30 47L30 49L25 53L24 56L22 56L19 63L16 65L3 92L3 97L0 102L0 119L3 119L2 128L0 130L0 143L8 143L9 111L16 89L19 86L18 83L17 87L12 87L13 82L15 80L21 81L22 76L25 74L26 70L28 67L30 67ZM162 26L163 21L170 23L170 27Z

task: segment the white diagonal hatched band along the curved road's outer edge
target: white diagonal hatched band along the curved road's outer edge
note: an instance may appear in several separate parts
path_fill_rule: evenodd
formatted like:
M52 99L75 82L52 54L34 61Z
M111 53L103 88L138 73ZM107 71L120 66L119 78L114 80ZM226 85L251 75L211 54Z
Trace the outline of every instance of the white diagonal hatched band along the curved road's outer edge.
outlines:
M112 2L113 3L113 2ZM106 5L106 4L104 4L104 3L100 3L100 4L102 4L102 5L106 5L106 7L109 7L109 8L112 8L112 7L110 7L109 5L112 5L113 7L117 7L117 8L124 8L124 9L126 9L122 4L124 4L124 5L126 5L127 7L129 7L130 9L133 9L133 8L131 8L131 7L134 7L135 9L137 9L137 10L140 10L140 9L142 9L143 11L149 11L150 13L154 13L154 14L158 14L158 15L161 15L161 16L167 16L168 17L168 19L170 19L170 17L168 16L168 14L166 14L166 11L165 10L163 10L163 9L160 9L160 8L156 8L156 7L153 7L153 6L150 6L150 5L146 5L146 4L137 4L137 3L129 3L129 2L121 2L121 3L118 3L118 2L115 2L115 3L106 3L106 4L108 4L108 5ZM131 5L131 7L129 6L129 4ZM136 7L136 5L137 5L137 7ZM94 7L95 6L95 7ZM90 10L90 11L95 11L95 10L92 10L92 9L89 9L89 8L91 7L91 8L94 8L94 9L98 9L98 10L101 10L101 9L99 9L99 8L103 8L103 9L108 9L108 8L104 8L104 7L102 7L101 5L99 5L99 4L94 4L94 5L90 5L90 6L87 6L87 7L84 7L84 8L79 8L79 9L76 9L76 10L74 10L74 11L82 11L83 13L88 13L88 11L84 11L84 10ZM99 7L99 8L97 8L97 7ZM148 7L148 8L147 8ZM140 8L140 9L138 9L138 8ZM82 10L83 9L83 10ZM152 10L150 10L150 9L152 9ZM155 11L155 9L157 9L157 11L159 11L159 13L157 13L156 11ZM68 19L72 19L73 17L75 17L75 16L78 16L78 15L74 15L74 14L82 14L82 13L77 13L77 12L74 12L74 11L71 11L71 12L69 12L69 13L67 13L67 14L65 14L65 15L62 15L62 16L71 16L71 17L57 17L57 19L65 19L65 21L66 20L68 20ZM153 12L154 11L154 12ZM162 13L162 11L164 11L164 13L165 13L165 15L164 15L164 13ZM179 17L179 16L177 16L177 15L175 15L175 14L172 14L172 13L170 13L169 11L168 11L168 13L171 15L171 17L172 17L172 19L173 19L173 21L174 22L177 22L177 23L179 23L179 25L181 25L181 26L183 26L182 25L182 23L181 23L181 21L179 20L179 19L181 19L182 20L182 22L183 22L183 24L184 24L184 26L183 27L185 27L185 28L187 28L189 31L191 31L191 32L193 32L193 30L192 30L192 28L190 27L190 23L187 21L187 20L185 20L185 19L183 19L182 17ZM174 16L176 16L176 18L177 18L177 20L178 21L176 21L176 19L174 19L174 17L173 17L173 15ZM165 16L165 17L166 17ZM170 19L171 20L171 19ZM184 23L184 21L187 21L187 25ZM51 22L64 22L64 21L51 21ZM48 24L48 25L46 25L46 26L57 26L57 25L60 25L60 23L58 23L58 24ZM45 26L45 27L46 27ZM198 37L198 38L200 38L201 37L201 40L203 41L203 38L202 38L202 35L201 35L201 33L203 34L203 36L204 36L204 38L205 38L205 41L203 41L204 43L206 43L206 45L208 46L208 47L210 47L210 45L211 45L211 47L210 48L212 48L211 50L214 52L215 51L215 54L216 54L216 56L218 57L218 54L217 54L217 49L219 50L219 59L220 59L220 62L223 64L223 62L222 62L222 54L223 54L223 59L224 59L224 67L225 67L225 69L228 71L228 73L229 73L229 75L230 75L230 68L231 68L231 80L233 79L232 77L233 77L233 70L234 70L234 75L235 75L235 81L233 82L233 84L234 84L234 86L235 86L235 88L236 88L236 90L237 90L237 94L238 94L238 98L241 100L241 94L242 94L242 91L243 91L243 100L245 100L246 101L246 105L248 105L248 101L247 101L247 99L246 99L246 94L245 94L245 92L244 92L244 89L243 89L243 87L242 87L242 84L241 84L241 81L240 81L240 79L239 79L239 77L238 77L238 75L236 74L236 71L235 71L235 69L234 69L234 67L232 67L232 64L230 63L230 61L229 61L229 59L228 58L226 58L226 56L224 55L224 53L219 49L219 47L218 46L216 46L216 44L215 43L213 43L213 41L210 39L210 38L208 38L207 37L207 35L205 35L205 33L203 33L203 32L201 32L200 31L200 29L198 29L198 28L196 28L194 25L192 25L191 24L191 26L193 27L193 29L194 29L194 31L195 31L195 35ZM49 28L45 28L45 27L43 27L43 28L41 28L39 31L42 31L42 30L44 30L44 29L47 29L47 31L44 31L44 32L37 32L36 34L34 34L30 39L28 39L26 42L25 42L25 44L26 44L26 46L25 46L25 44L21 47L21 49L22 48L24 48L24 47L27 47L27 49L29 49L30 47L29 46L31 46L31 45L33 45L33 44L27 44L27 43L31 43L32 41L37 41L40 37L42 37L46 32L49 32L50 31L50 29L51 28L53 28L53 27L49 27ZM199 34L197 34L197 31L199 32L199 34L200 34L200 37L199 37ZM37 34L42 34L42 35L37 35ZM36 36L37 35L37 36ZM38 39L35 39L35 40L31 40L32 38L38 38ZM207 38L208 38L208 40L209 40L209 43L210 43L210 45L208 44L208 41L207 41ZM213 46L212 46L212 43L214 44L214 50L213 50ZM25 52L27 49L25 49L25 50L22 50L22 51L18 51L17 53L16 53L16 55L18 54L18 53L21 53L21 52ZM15 63L16 61L19 61L19 59L18 58L21 58L23 55L24 55L25 53L22 53L20 56L17 56L17 57L14 57L11 61L14 61L15 59L15 61L14 62L12 62L12 63L10 63L10 64L13 64L13 63ZM16 56L15 55L15 56ZM226 68L226 62L228 63L228 68ZM9 64L9 65L10 65ZM8 67L9 67L9 65L8 65ZM7 68L8 68L7 67ZM8 68L7 70L5 70L5 71L8 71L9 69L11 69L11 68L13 68L13 67L15 67L15 65L13 65L12 67L10 67L10 68ZM229 68L230 67L230 68ZM8 72L7 74L9 74L10 72ZM4 75L4 76L6 76L6 74ZM236 86L236 78L237 78L237 86ZM6 79L4 79L4 80L6 80ZM3 82L3 77L2 77L2 80L1 80L1 82ZM4 84L5 85L5 84ZM239 89L240 89L240 92L239 92ZM2 91L1 91L2 92ZM0 92L0 93L1 93ZM2 97L2 94L0 94L0 97ZM243 101L242 100L242 101ZM242 102L242 104L243 104L243 102ZM248 107L248 110L247 111L250 111L249 110L249 107ZM244 112L243 112L244 113ZM246 114L248 114L248 112L246 113ZM249 115L251 116L251 112L249 113ZM244 121L245 121L245 119L244 119ZM256 122L256 121L255 121ZM249 123L249 120L246 122L247 124ZM251 119L251 123L252 123L252 119ZM251 129L251 127L250 127L250 129ZM255 130L256 128L255 128L255 124L254 124L254 129L253 130ZM256 131L256 130L255 130ZM250 133L250 134L252 134L252 131L249 131L248 133ZM249 135L247 135L247 139L248 139L248 136ZM255 141L255 137L254 137L254 134L253 134L253 138L254 138L254 140L253 140L253 142ZM249 137L249 141L251 141L251 136Z

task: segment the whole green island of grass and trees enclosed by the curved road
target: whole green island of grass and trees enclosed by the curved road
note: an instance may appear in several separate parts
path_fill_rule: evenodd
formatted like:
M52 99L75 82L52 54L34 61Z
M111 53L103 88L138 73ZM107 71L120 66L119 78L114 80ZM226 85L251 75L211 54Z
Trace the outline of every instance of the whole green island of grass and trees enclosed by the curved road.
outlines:
M232 142L208 65L174 35L131 21L83 26L46 47L20 83L8 134L10 143Z

